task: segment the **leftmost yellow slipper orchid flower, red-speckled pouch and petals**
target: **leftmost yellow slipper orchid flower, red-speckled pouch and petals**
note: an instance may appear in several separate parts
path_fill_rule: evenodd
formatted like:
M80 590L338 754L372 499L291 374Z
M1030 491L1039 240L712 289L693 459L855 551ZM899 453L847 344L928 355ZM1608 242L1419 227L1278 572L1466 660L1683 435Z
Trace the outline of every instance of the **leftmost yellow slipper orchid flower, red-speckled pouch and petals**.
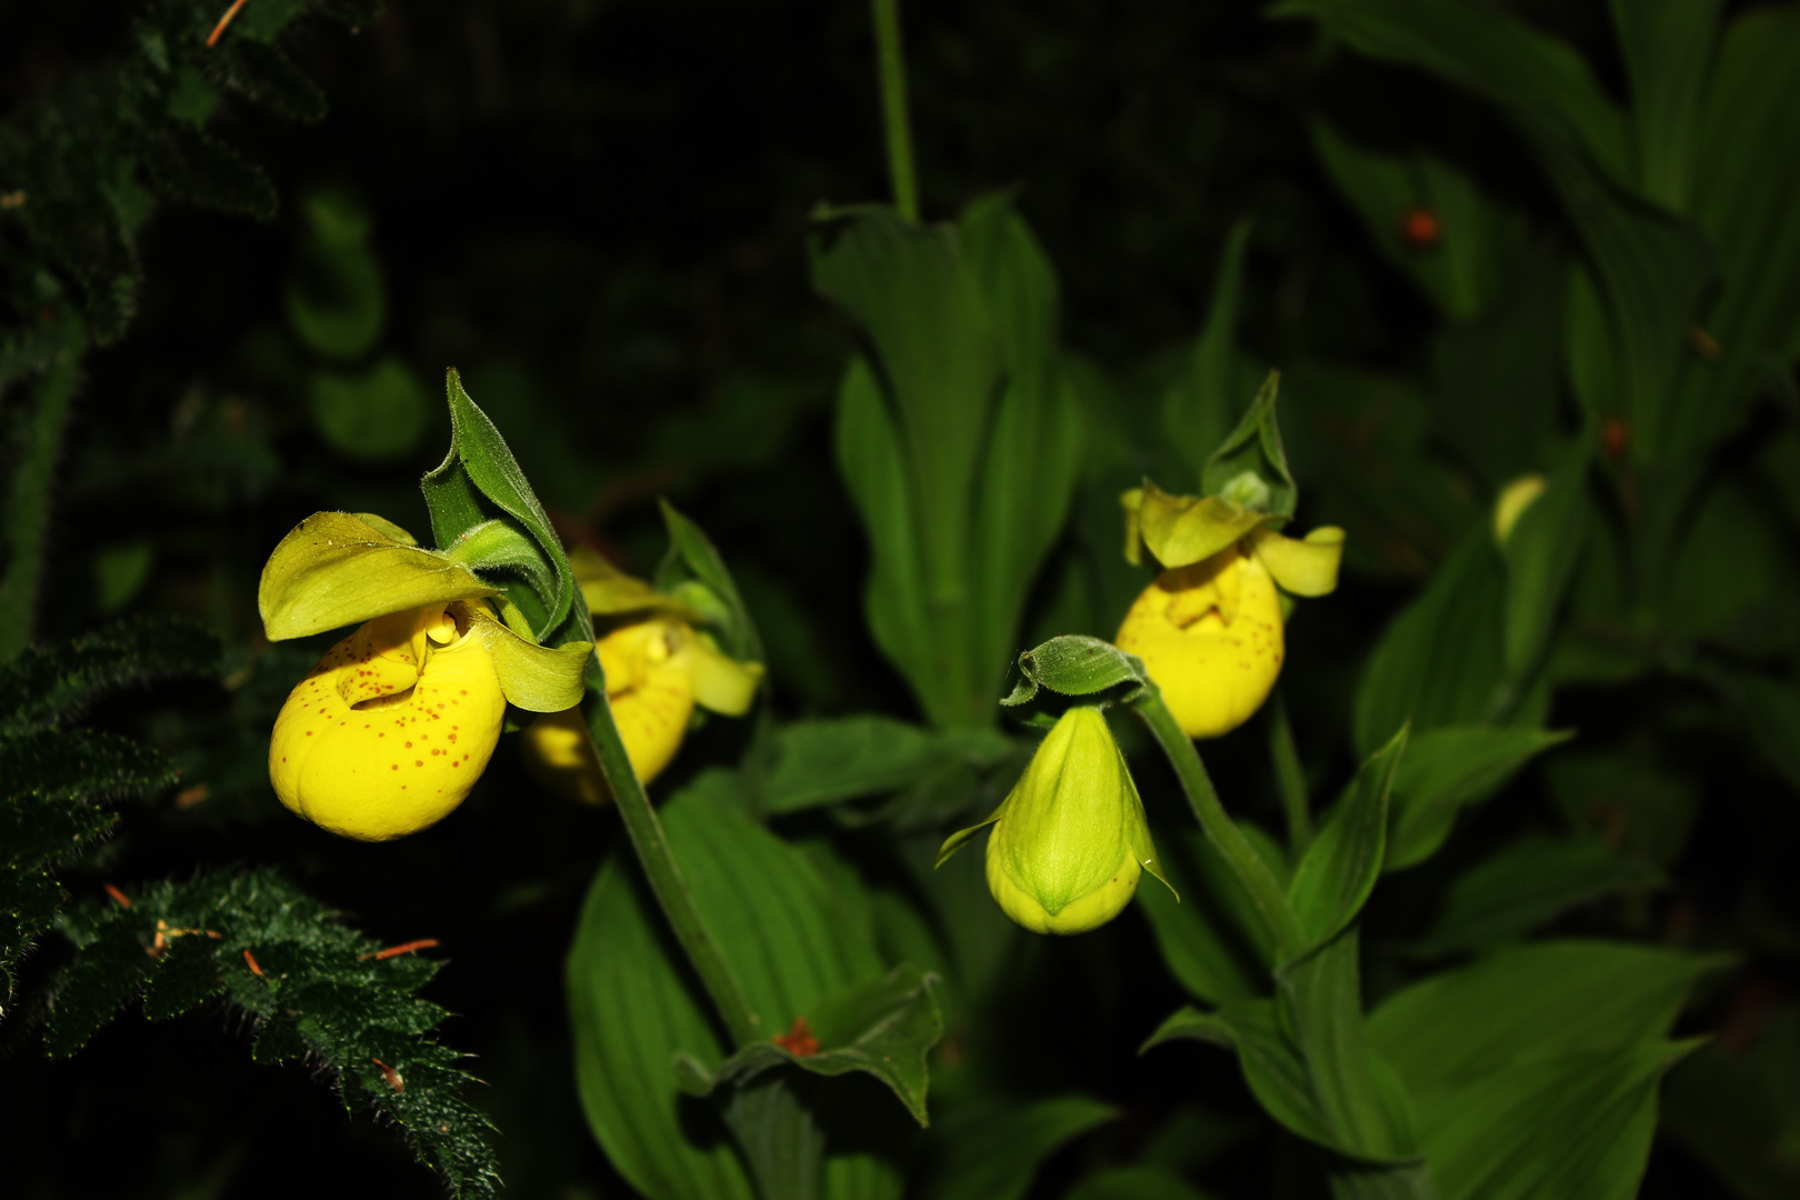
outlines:
M270 640L362 621L288 694L268 745L284 806L382 842L448 815L486 768L506 705L580 700L590 642L538 646L495 619L499 590L378 516L317 513L263 569Z

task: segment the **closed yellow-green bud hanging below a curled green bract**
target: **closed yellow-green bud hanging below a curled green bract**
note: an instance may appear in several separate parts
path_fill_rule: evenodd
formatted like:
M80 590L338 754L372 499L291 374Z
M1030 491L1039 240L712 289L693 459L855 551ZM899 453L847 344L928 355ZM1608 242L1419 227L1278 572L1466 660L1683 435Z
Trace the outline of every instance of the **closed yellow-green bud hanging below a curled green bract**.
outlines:
M988 891L1037 934L1085 934L1125 909L1139 874L1163 880L1138 784L1096 707L1064 712L994 815L950 835L938 864L988 824Z

